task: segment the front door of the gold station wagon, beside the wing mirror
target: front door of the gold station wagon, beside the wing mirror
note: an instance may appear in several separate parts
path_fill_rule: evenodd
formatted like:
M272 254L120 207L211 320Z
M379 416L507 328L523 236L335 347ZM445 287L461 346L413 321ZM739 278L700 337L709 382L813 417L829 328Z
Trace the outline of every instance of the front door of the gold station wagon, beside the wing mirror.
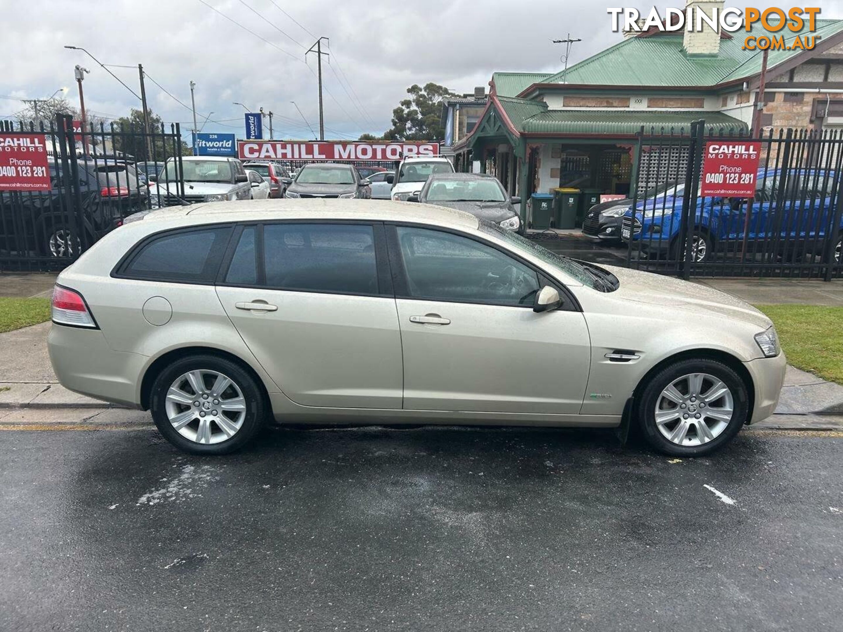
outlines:
M544 281L491 244L387 230L406 410L579 413L591 360L583 313L534 313Z

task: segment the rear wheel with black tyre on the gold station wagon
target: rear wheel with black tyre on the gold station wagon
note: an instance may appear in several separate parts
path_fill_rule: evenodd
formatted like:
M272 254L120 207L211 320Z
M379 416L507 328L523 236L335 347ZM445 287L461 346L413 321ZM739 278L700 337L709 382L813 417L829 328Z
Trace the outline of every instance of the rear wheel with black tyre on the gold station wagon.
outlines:
M249 442L269 412L263 388L236 362L190 356L153 383L150 411L158 431L192 454L226 454Z

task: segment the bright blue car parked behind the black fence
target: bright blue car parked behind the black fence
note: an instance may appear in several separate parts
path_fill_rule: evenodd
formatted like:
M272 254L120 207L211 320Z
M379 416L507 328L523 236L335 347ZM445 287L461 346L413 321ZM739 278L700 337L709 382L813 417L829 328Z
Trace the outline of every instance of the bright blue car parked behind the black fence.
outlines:
M835 212L840 184L828 169L760 169L754 201L744 198L697 197L691 229L691 259L711 260L717 249L737 247L747 235L748 249L788 257L795 253L822 255L826 229ZM779 201L779 188L784 195ZM643 200L626 212L621 238L650 257L681 258L684 200L681 192ZM747 224L747 209L749 225ZM776 235L778 238L776 239ZM835 238L835 262L840 263L843 221ZM774 252L775 250L775 252Z

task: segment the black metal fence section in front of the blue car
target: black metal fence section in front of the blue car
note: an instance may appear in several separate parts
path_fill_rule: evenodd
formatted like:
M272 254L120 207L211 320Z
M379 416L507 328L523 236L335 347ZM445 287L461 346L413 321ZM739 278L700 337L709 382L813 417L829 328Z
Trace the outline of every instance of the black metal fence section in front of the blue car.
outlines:
M702 197L706 141L721 131L642 132L631 212L621 224L631 267L690 276L843 277L843 131L770 131L752 198ZM728 137L725 137L728 138Z

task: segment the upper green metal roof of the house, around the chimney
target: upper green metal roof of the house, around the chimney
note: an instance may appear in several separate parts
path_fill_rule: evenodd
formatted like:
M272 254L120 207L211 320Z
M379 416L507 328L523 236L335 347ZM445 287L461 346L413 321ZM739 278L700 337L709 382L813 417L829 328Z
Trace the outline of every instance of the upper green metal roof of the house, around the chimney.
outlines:
M816 43L828 40L843 31L843 20L818 19L816 30L784 29L776 33L754 27L751 34L778 37L784 35L791 43L796 35L815 36ZM605 51L534 83L566 83L577 85L671 86L705 87L752 77L761 70L762 51L744 51L744 31L720 40L717 56L689 56L682 48L681 32L663 33L649 37L631 37L610 46ZM820 39L821 38L821 39ZM782 62L803 52L770 51L767 66L771 72ZM524 88L526 89L526 87ZM518 93L521 94L521 93Z

